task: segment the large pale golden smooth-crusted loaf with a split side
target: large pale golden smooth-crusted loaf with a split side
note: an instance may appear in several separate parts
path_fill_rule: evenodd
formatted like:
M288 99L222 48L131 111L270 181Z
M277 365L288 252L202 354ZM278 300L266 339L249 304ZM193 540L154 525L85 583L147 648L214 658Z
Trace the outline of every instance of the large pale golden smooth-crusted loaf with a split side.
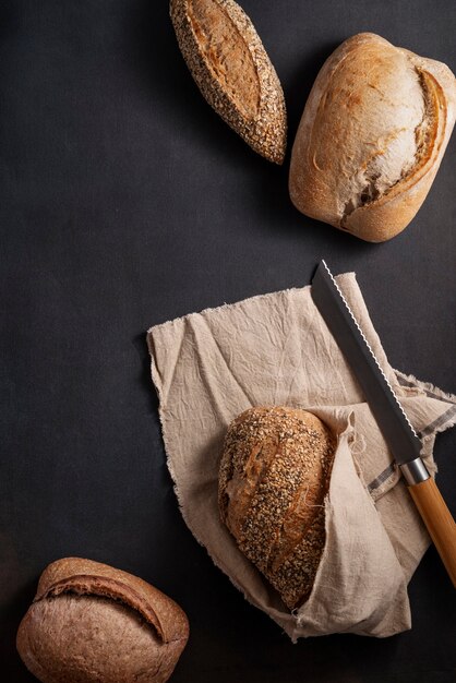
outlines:
M296 207L371 242L400 232L424 201L455 122L449 69L374 34L326 60L291 152Z

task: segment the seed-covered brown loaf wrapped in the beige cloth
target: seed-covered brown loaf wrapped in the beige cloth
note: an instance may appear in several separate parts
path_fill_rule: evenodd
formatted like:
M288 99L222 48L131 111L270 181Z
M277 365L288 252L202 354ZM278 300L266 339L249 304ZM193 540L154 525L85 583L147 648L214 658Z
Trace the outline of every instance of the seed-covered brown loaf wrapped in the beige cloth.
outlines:
M221 519L289 609L309 597L323 552L334 450L317 417L286 407L250 408L225 439Z

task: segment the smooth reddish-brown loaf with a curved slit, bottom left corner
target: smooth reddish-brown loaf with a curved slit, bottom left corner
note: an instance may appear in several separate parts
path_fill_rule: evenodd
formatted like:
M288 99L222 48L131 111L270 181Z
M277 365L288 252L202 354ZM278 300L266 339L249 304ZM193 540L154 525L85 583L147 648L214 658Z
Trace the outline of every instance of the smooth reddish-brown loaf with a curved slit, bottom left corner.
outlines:
M164 683L189 637L184 612L146 582L106 564L50 564L17 632L43 683Z

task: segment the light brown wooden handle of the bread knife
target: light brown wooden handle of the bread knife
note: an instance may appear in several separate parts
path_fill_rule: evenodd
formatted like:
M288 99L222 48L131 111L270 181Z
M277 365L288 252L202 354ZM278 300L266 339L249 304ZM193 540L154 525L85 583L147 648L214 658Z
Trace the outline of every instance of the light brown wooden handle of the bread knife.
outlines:
M408 490L456 588L456 524L452 513L432 477Z

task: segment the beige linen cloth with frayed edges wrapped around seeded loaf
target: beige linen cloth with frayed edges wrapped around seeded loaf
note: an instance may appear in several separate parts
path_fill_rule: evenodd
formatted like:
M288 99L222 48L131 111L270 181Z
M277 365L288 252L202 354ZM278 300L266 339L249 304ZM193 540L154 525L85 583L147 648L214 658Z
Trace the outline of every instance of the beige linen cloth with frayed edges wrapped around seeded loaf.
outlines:
M336 279L435 471L435 433L454 424L456 398L394 371L355 274ZM409 628L407 583L429 537L310 287L192 313L152 327L147 339L180 510L245 598L293 640L329 633L383 637ZM218 515L227 427L259 405L309 409L339 434L325 500L326 546L312 594L292 613L238 550Z

